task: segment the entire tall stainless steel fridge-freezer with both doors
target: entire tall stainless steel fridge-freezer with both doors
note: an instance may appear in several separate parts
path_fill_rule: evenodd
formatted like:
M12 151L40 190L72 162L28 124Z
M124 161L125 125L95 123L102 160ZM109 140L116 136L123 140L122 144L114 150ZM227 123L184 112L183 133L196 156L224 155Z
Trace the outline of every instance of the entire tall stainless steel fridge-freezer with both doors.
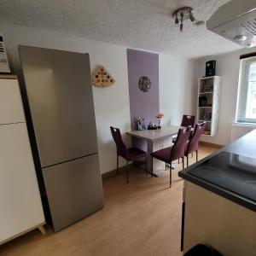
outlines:
M103 207L88 54L19 46L54 230Z

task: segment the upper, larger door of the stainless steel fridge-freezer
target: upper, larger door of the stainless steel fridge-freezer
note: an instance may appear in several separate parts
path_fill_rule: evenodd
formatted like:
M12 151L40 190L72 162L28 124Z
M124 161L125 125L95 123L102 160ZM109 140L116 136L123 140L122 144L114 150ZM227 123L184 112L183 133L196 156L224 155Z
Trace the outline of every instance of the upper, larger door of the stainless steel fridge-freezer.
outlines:
M98 152L88 54L20 46L41 165Z

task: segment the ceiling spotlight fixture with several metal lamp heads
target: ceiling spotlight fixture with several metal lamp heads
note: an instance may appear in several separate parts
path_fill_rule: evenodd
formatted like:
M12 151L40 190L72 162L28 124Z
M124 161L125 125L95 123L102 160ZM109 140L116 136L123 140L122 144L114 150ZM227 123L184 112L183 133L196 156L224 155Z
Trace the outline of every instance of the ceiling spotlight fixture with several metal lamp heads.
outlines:
M176 26L179 24L179 21L180 21L180 25L179 25L180 32L183 32L183 21L184 20L190 20L191 22L193 22L193 24L195 26L201 26L201 25L205 24L205 22L202 20L195 20L194 9L189 6L185 6L183 8L179 8L179 9L175 10L172 13L172 18L175 20Z

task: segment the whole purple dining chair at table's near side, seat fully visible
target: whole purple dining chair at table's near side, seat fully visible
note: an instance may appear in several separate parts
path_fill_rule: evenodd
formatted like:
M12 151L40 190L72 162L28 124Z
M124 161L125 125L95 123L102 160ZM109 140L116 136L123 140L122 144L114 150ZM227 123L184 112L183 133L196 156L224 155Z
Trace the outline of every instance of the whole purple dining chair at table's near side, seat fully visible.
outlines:
M165 162L166 165L170 166L170 188L172 186L172 161L182 158L184 168L184 153L190 132L191 126L180 128L177 132L177 140L172 145L172 147L163 148L151 154L152 158L161 160Z

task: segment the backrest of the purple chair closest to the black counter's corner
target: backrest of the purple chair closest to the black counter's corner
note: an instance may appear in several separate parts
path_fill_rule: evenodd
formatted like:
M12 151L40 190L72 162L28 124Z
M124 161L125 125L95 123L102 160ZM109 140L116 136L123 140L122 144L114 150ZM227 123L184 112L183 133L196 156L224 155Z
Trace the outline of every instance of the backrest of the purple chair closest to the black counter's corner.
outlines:
M184 156L186 143L188 142L191 133L191 126L187 128L180 128L177 132L177 139L172 146L171 160L177 160Z

